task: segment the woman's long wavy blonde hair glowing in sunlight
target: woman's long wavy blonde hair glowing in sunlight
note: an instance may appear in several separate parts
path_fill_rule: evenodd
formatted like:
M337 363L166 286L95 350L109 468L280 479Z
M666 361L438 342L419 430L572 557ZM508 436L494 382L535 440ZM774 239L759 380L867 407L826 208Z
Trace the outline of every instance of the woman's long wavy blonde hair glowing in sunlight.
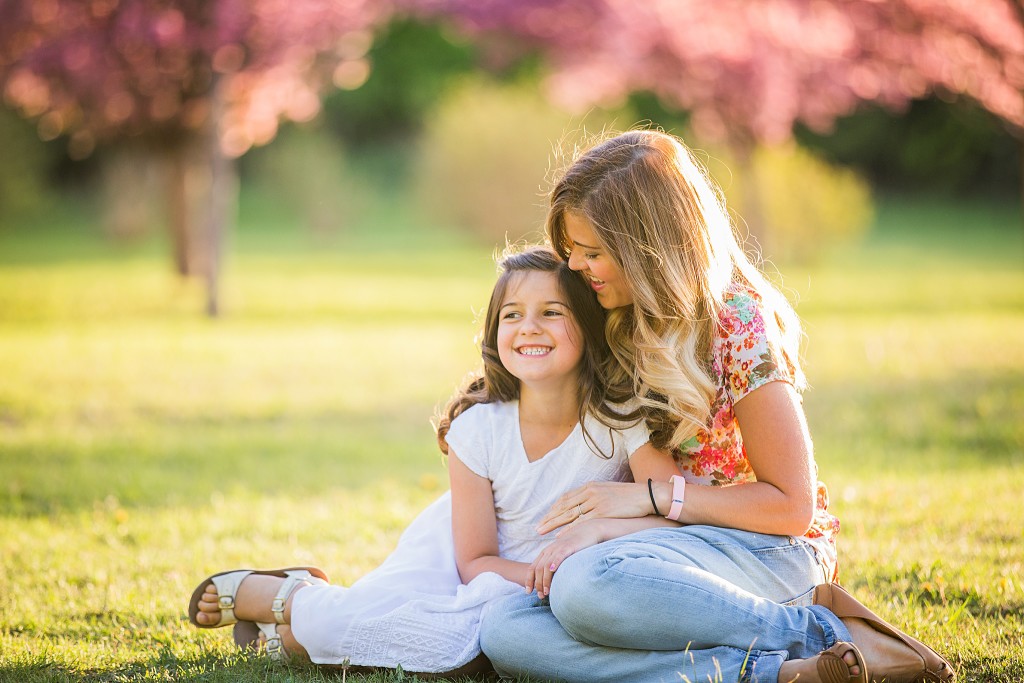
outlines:
M565 259L567 212L590 221L631 289L633 305L611 310L605 324L617 360L608 381L631 385L649 411L655 444L679 446L710 423L720 382L712 345L733 283L761 296L771 351L803 388L800 322L743 252L721 193L681 140L634 130L573 161L547 219Z

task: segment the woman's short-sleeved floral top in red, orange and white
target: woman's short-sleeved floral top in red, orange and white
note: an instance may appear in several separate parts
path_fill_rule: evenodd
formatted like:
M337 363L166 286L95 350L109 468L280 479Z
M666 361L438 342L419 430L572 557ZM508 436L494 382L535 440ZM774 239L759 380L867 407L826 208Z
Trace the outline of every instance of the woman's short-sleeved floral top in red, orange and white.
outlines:
M758 387L769 382L792 383L795 375L786 359L772 354L762 313L760 295L741 285L730 288L713 347L718 393L712 404L711 424L675 454L687 481L728 486L757 480L733 407ZM814 522L805 541L819 553L833 574L838 532L839 519L828 513L828 489L818 482Z

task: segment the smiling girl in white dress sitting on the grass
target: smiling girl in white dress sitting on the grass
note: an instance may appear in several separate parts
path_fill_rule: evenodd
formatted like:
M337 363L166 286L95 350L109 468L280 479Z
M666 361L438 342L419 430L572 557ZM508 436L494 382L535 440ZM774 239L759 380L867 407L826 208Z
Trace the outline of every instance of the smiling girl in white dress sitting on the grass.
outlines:
M587 285L547 248L508 256L502 269L484 323L483 374L438 426L451 498L349 588L327 584L314 567L218 573L193 594L193 624L237 624L243 644L262 631L268 649L316 664L469 673L483 605L524 588L546 595L549 554L669 523L604 520L557 540L537 531L554 501L587 481L662 480L678 469L601 380L604 312Z

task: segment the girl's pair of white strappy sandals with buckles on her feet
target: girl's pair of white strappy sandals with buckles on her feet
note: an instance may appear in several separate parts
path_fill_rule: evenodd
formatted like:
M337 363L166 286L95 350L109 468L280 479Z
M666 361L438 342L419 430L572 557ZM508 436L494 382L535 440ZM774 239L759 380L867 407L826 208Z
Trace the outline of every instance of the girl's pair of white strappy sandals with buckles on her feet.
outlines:
M278 594L270 603L270 611L276 624L262 624L254 622L240 622L234 616L234 595L239 586L249 574L279 577L284 579ZM289 596L303 583L313 585L326 585L327 574L316 567L288 567L285 569L236 569L233 571L222 571L215 573L201 583L193 591L191 599L188 601L188 621L201 629L219 629L223 626L237 625L234 627L234 642L240 646L251 647L259 639L259 632L266 636L266 652L271 659L279 660L284 655L281 635L278 633L278 624L285 623L285 604ZM216 624L200 624L197 621L199 615L199 602L206 593L206 589L213 585L217 589L217 599L220 606L220 621ZM255 627L255 628L253 628Z

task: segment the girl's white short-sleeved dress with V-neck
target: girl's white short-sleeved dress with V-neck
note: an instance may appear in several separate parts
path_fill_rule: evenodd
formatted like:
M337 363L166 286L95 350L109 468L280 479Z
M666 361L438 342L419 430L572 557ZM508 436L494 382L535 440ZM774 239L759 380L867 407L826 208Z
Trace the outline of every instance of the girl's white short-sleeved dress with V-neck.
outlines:
M644 424L611 430L589 417L586 424L610 458L595 455L578 424L559 446L529 462L517 401L477 404L453 421L449 445L492 481L502 557L532 561L554 538L539 536L537 524L563 493L588 481L630 479L629 457L649 438ZM352 586L296 592L292 633L316 664L452 671L480 653L484 604L523 590L493 572L462 583L452 499L444 494L413 520L384 563Z

